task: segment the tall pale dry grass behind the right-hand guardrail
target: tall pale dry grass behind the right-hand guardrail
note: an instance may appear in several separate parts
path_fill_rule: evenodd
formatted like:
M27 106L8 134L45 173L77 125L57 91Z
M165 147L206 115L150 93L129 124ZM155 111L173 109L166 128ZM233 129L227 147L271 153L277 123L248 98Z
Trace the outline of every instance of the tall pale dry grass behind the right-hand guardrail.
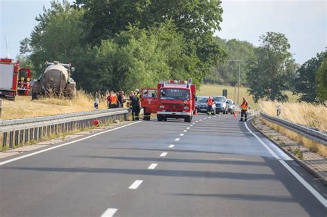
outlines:
M263 101L261 110L270 116L276 116L276 101ZM310 103L280 103L281 118L306 127L315 127L327 132L327 107Z

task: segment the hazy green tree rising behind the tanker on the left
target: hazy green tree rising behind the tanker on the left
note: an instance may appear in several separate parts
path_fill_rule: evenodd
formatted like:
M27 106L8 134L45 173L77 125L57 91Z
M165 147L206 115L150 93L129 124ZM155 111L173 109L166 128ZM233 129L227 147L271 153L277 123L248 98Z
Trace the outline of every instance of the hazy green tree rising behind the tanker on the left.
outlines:
M75 10L67 0L51 1L51 7L43 8L36 18L38 24L30 39L21 41L21 54L27 55L35 68L45 61L72 61L83 35L82 16L83 10Z

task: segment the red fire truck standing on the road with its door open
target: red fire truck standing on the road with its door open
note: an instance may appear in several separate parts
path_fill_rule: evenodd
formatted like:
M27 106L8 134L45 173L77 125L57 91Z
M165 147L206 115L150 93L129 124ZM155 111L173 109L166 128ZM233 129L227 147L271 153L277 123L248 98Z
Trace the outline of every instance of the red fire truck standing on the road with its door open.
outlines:
M196 85L187 81L169 80L158 83L157 88L142 89L141 107L144 120L150 121L150 115L157 114L158 121L167 121L167 118L192 121L195 112L195 88Z

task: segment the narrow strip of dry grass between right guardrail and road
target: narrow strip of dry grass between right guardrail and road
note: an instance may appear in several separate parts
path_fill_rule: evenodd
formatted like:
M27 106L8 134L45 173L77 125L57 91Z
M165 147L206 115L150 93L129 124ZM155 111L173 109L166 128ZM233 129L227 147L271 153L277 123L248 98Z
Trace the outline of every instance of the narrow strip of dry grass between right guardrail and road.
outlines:
M301 136L291 130L286 129L285 127L281 127L279 125L271 123L270 121L266 121L264 118L261 118L261 121L268 127L271 127L274 130L280 132L281 134L284 134L288 138L291 138L299 145L304 145L305 147L308 147L308 149L310 149L311 151L316 152L317 154L320 154L321 156L327 158L327 147L325 145L316 143L315 141L312 141L304 136Z

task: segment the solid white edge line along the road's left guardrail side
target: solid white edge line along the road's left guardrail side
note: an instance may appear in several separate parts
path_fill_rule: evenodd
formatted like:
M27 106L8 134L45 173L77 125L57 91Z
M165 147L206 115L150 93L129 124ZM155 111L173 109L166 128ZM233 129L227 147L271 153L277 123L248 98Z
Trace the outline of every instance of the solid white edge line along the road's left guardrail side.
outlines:
M69 142L69 143L63 143L63 144L61 144L61 145L57 145L57 146L54 146L54 147L49 147L49 148L47 148L47 149L43 149L43 150L38 151L38 152L33 152L33 153L30 153L30 154L26 154L26 155L23 155L23 156L19 156L19 157L17 157L17 158L12 158L12 159L7 160L7 161L2 161L2 162L0 162L0 166L1 166L1 165L5 165L5 164L10 163L10 162L13 162L13 161L18 161L18 160L23 159L23 158L28 158L29 156L33 156L33 155L36 155L36 154L41 154L41 153L43 153L43 152L48 152L48 151L50 151L50 150L52 150L52 149L56 149L56 148L58 148L58 147L63 147L63 146L65 146L65 145L70 145L70 144L72 144L72 143L77 143L77 142L79 142L79 141L83 141L83 140L86 140L86 139L88 139L88 138L92 138L92 137L94 137L94 136L98 136L98 135L100 135L100 134L105 134L106 132L110 132L110 131L118 130L118 129L121 129L121 128L123 128L123 127L127 127L127 126L133 125L133 124L135 124L135 123L140 123L140 122L142 122L142 121L137 121L137 122L134 122L134 123L129 123L128 125L123 125L123 126L121 126L121 127L117 127L117 128L111 129L111 130L106 130L106 131L103 131L103 132L99 132L99 133L97 133L97 134L93 134L93 135L91 135L91 136L86 136L86 137L84 137L84 138L79 138L79 139L77 139L77 140L75 140L75 141L71 141L71 142Z

